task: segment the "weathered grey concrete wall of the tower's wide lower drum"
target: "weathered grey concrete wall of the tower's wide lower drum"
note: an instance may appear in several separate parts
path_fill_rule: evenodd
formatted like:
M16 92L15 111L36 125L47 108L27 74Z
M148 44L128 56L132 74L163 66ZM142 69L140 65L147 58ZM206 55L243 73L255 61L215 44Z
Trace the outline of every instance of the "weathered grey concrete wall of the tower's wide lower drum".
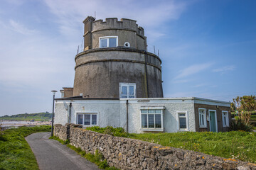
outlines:
M123 48L87 50L75 62L73 96L119 98L119 83L135 83L137 98L163 97L161 60L151 53Z

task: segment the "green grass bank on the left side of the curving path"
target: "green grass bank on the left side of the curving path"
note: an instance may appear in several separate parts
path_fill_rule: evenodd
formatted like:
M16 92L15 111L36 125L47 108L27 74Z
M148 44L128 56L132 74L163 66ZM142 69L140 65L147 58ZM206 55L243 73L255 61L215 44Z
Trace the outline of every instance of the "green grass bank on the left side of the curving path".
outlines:
M34 132L50 132L50 126L20 127L0 133L0 169L38 169L36 157L25 137Z

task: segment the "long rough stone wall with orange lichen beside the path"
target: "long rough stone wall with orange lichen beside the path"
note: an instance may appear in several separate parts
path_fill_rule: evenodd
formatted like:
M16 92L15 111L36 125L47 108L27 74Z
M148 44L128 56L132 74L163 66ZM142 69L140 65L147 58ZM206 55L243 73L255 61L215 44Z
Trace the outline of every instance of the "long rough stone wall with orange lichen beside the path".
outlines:
M55 135L60 139L65 139L69 135L70 145L80 147L87 153L94 154L96 150L99 150L110 166L119 169L256 170L256 164L240 162L235 159L224 159L200 152L163 147L141 140L113 137L73 127L75 126L72 124L55 125Z

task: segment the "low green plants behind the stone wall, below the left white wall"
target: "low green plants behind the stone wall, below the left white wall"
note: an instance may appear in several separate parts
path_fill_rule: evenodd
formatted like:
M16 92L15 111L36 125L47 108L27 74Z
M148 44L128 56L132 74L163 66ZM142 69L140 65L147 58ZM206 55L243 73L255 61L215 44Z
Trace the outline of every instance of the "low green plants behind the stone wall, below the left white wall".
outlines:
M112 136L127 137L127 132L124 132L124 128L113 128L112 126L107 126L106 128L100 128L99 126L92 126L92 127L87 127L86 129L112 135Z

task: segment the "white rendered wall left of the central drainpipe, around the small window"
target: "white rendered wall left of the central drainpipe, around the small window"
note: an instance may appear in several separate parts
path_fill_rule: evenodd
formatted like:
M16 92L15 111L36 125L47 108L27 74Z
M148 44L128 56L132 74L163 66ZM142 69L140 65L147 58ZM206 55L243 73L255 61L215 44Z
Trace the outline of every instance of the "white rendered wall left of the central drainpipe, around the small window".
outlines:
M81 101L56 101L55 124L68 123L69 104L72 103L70 123L77 123L78 113L97 113L97 122L100 127L111 125L122 127L119 114L120 104L118 100L81 100ZM123 119L123 118L122 118Z

